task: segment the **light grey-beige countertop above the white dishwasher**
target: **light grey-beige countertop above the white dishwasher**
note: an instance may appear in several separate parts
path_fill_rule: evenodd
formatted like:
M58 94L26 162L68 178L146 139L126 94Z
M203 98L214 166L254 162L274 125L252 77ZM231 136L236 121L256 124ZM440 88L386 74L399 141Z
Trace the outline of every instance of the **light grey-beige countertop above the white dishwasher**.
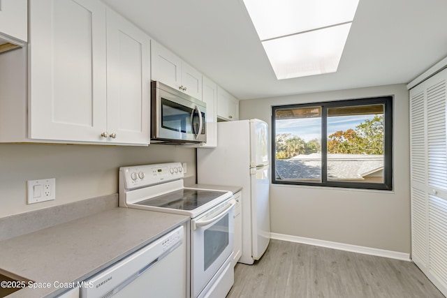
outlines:
M0 241L0 269L50 288L24 288L8 297L54 297L137 251L189 216L116 207Z

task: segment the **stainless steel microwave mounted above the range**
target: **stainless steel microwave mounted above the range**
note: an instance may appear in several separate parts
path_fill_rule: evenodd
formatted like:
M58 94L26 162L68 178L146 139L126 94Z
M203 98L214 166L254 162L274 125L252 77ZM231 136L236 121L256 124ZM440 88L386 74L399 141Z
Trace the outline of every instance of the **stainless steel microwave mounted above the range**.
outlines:
M206 142L206 104L161 82L151 82L151 140Z

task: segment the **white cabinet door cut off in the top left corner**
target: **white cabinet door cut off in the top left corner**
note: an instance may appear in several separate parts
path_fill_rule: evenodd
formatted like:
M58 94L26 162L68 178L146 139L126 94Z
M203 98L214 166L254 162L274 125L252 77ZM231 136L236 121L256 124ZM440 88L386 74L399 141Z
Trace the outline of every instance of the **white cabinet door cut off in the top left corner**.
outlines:
M27 41L27 5L27 0L0 0L0 33Z

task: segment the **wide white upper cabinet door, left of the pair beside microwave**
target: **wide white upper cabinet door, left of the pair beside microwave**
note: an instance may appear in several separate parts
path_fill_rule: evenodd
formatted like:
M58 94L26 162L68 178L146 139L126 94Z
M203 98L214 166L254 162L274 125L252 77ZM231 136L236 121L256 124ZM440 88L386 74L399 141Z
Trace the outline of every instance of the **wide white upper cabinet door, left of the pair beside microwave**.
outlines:
M29 137L105 141L105 6L29 1Z

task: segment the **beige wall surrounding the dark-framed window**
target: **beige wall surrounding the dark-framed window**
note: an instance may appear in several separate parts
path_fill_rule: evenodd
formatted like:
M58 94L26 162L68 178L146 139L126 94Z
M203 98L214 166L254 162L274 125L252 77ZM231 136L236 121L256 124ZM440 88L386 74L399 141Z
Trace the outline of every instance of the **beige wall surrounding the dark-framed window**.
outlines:
M270 188L272 232L410 252L409 93L406 85L240 101L240 119L271 123L271 106L394 95L393 191L283 186Z

